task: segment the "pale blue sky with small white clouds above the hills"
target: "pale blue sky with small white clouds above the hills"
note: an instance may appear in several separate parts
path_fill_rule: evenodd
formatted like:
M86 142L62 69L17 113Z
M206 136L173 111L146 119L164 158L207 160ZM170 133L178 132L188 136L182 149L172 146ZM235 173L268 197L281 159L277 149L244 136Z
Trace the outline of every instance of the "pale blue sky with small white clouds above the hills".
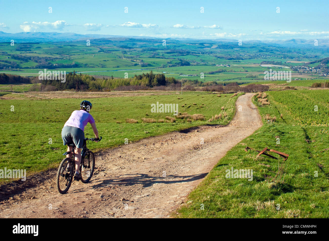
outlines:
M329 38L329 1L321 0L0 0L0 4L0 31L10 33L75 32L241 40Z

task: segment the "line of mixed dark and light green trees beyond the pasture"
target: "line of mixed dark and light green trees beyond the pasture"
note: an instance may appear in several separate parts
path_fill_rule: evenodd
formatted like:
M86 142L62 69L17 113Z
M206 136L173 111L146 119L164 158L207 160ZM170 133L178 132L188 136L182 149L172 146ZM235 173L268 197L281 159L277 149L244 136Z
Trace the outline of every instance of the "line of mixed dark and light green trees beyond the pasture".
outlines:
M35 83L34 80L32 80ZM60 80L42 80L42 86L35 85L31 91L55 91L55 90L75 90L75 91L111 91L111 90L181 90L181 80L173 77L165 77L162 74L155 74L152 71L135 75L132 78L95 78L90 75L68 73L66 81L61 83ZM194 91L224 91L237 92L251 90L263 91L268 90L264 85L247 85L240 87L238 83L229 83L222 86L222 83L216 81L202 82L198 79L183 79L183 90Z

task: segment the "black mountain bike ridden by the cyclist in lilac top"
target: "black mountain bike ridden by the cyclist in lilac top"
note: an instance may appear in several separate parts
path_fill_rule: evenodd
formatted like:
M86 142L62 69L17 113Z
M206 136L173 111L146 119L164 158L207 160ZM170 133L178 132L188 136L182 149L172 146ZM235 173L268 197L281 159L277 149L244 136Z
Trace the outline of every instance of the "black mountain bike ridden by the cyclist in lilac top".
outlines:
M100 141L102 137L99 138ZM73 177L74 180L81 180L83 183L88 183L94 173L95 168L95 155L92 151L87 148L87 141L95 141L95 138L85 138L83 147L81 150L81 164L80 164L80 176L79 178L74 177L75 174L75 163L74 163L74 151L66 151L63 155L72 155L72 158L66 157L61 162L57 171L57 188L61 194L64 194L70 188ZM71 166L70 171L67 168Z

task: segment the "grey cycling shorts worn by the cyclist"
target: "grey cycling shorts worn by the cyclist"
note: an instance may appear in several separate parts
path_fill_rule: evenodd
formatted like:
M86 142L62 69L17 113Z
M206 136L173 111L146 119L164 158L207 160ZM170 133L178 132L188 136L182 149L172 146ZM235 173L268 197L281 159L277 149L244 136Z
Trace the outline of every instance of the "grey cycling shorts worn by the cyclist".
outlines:
M64 146L68 145L82 148L85 139L85 132L77 127L64 126L62 129L62 139Z

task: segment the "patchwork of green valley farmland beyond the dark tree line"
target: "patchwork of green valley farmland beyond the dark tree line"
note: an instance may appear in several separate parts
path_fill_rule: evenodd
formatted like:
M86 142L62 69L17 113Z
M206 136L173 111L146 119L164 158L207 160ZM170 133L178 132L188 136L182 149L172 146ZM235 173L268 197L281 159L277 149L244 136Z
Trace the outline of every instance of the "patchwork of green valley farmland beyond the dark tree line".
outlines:
M255 82L247 75L252 73L256 74L257 78L262 78L266 70L291 70L290 68L302 64L290 61L298 59L308 62L314 60L314 55L323 58L327 53L323 49L307 49L303 54L298 54L297 50L293 54L287 54L285 48L254 46L250 43L237 48L232 43L218 45L217 42L201 44L168 40L167 45L163 46L158 39L127 38L115 38L111 41L91 40L90 46L86 46L84 41L63 41L17 43L15 46L0 43L0 48L3 50L0 53L0 66L3 66L3 69L0 72L22 76L37 76L38 71L44 68L89 75L113 75L118 78L123 78L125 72L128 77L133 77L135 74L152 70L154 73L164 73L166 77L176 79L229 81L228 83ZM280 55L283 57L279 57ZM184 64L180 64L182 59L185 60ZM260 66L263 61L276 62L287 68ZM16 64L15 67L11 62ZM316 65L318 63L311 64L310 67ZM209 73L218 70L222 72ZM204 73L204 78L200 78L201 73ZM319 76L316 73L311 75L313 78Z

